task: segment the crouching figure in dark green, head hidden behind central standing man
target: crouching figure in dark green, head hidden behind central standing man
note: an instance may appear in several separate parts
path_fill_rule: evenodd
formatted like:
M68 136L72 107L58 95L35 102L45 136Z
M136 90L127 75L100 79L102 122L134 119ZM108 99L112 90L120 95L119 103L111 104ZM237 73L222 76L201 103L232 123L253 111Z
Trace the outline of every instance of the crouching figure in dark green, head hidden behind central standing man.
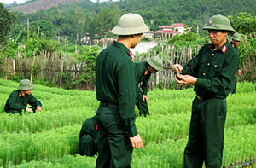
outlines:
M98 152L96 116L86 119L79 134L79 154L94 156Z

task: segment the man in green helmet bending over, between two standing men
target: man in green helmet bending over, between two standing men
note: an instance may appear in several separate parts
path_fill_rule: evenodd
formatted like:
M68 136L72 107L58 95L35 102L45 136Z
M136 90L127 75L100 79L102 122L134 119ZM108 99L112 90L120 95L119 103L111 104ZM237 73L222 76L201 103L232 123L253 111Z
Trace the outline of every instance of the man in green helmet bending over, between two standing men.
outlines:
M151 73L158 72L160 68L163 66L163 61L154 56L152 58L147 58L145 62L137 62L135 63L136 66L136 77L137 77L137 102L136 106L139 110L140 116L143 114L145 117L147 114L149 115L148 111L148 80L151 76ZM141 89L139 88L138 84L143 83L141 85Z

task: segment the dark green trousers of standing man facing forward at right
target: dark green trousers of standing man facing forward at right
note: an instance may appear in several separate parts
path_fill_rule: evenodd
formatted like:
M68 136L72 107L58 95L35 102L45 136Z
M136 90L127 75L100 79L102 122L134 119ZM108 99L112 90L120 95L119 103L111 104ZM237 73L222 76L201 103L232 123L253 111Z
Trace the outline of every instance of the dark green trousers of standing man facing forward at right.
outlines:
M199 168L203 161L207 168L222 165L224 123L227 103L225 99L193 101L189 128L189 142L184 151L184 167Z

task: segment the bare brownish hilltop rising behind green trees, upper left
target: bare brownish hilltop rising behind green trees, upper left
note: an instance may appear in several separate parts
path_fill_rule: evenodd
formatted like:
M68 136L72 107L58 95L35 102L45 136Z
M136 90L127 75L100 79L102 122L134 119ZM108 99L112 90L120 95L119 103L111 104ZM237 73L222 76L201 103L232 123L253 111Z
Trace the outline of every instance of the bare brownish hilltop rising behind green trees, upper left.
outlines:
M49 9L52 6L60 6L67 3L75 3L79 1L80 0L38 0L38 1L23 3L19 6L15 6L13 7L13 10L28 14L32 12L37 12L38 10L41 10L41 9Z

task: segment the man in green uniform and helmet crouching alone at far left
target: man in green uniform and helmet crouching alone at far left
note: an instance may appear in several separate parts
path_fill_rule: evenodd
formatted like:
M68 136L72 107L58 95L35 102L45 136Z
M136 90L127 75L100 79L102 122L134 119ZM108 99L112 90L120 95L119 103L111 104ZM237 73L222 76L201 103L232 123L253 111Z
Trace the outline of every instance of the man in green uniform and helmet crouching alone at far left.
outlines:
M26 110L29 113L35 113L36 110L41 111L42 104L31 92L34 85L28 79L20 81L18 90L13 91L8 100L6 101L4 111L6 113L20 113L22 110ZM26 107L27 104L32 107Z

